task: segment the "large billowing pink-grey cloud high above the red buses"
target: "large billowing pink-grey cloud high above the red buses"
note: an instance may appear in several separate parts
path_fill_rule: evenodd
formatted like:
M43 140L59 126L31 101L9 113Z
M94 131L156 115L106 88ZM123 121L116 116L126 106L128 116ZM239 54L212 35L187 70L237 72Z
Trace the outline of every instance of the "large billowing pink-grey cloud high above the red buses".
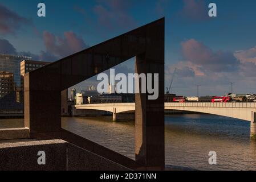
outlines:
M234 53L214 52L195 39L182 42L181 46L184 61L169 66L172 71L174 68L177 68L177 72L180 69L180 77L192 77L192 71L196 77L201 76L217 82L227 77L231 81L238 78L245 81L248 77L256 77L256 46Z

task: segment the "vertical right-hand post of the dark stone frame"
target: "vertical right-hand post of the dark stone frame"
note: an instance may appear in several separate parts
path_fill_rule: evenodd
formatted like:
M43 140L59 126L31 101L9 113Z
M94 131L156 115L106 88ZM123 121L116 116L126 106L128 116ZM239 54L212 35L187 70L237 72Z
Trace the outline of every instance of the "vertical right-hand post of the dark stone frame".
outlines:
M156 38L161 40L160 38ZM149 100L149 93L135 94L135 160L141 169L164 170L164 46L160 52L136 56L135 70L141 73L158 73L159 97ZM148 51L149 52L153 52ZM155 59L152 59L154 57ZM152 80L151 80L152 81ZM155 80L156 81L156 80ZM149 81L147 80L147 84ZM153 85L153 81L152 81Z

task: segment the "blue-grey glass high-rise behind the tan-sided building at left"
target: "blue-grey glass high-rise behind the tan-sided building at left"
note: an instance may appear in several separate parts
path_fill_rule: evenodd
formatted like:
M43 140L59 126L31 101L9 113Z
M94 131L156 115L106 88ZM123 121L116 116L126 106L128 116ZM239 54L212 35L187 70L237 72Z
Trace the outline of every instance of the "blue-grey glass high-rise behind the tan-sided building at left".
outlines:
M20 63L25 59L30 60L31 57L0 54L0 71L13 73L14 86L21 86Z

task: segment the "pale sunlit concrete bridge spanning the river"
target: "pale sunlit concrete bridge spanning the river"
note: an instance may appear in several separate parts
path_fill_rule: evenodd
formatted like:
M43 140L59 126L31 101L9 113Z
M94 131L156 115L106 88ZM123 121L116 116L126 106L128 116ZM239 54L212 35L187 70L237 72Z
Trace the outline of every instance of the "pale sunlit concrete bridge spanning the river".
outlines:
M76 109L104 110L113 113L113 121L118 113L135 111L135 103L85 104ZM165 102L165 110L194 111L242 119L251 122L251 138L256 138L256 103L254 102Z

